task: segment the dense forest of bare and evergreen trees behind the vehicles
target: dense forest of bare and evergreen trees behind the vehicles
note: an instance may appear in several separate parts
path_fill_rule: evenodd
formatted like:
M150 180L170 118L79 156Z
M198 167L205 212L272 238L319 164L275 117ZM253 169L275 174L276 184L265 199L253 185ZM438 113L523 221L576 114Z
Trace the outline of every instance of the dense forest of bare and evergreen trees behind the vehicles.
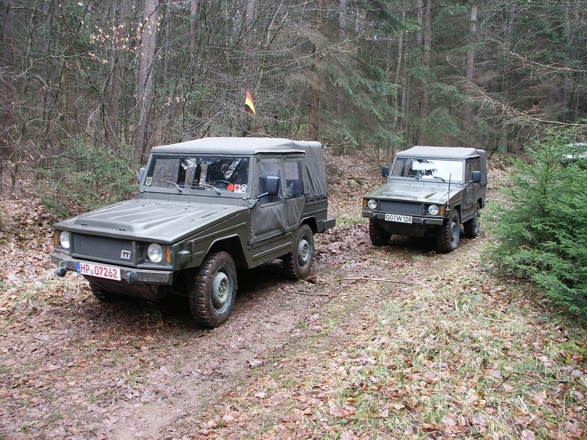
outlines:
M203 136L383 158L417 143L505 151L556 127L584 140L586 12L584 0L2 0L4 191L23 161L60 167L57 181L88 151L92 166L144 163L154 144Z

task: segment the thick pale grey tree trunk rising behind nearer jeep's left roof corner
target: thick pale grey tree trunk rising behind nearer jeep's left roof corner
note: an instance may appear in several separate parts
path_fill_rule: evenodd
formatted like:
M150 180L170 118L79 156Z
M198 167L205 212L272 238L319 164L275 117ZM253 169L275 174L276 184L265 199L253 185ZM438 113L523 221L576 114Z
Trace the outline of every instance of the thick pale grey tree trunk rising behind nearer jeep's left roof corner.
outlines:
M141 36L141 55L139 64L139 87L137 107L139 120L134 132L135 158L142 163L147 143L151 137L149 114L153 96L153 67L157 39L157 8L159 0L145 0L145 19Z

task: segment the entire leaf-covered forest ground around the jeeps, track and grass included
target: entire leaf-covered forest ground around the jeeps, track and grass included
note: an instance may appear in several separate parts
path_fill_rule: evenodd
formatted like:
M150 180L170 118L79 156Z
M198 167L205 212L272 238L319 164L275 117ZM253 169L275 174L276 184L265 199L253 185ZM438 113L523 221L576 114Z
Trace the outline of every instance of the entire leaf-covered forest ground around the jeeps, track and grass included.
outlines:
M183 299L102 304L58 279L45 208L0 198L0 439L585 438L585 330L494 276L484 229L444 255L373 246L360 203L380 166L360 162L328 157L338 223L311 276L239 273L214 330Z

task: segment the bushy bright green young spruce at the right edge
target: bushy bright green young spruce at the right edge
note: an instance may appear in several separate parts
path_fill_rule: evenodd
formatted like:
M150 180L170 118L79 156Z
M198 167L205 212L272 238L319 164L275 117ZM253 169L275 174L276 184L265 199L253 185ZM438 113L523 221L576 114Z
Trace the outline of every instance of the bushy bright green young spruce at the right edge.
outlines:
M587 170L563 166L569 139L552 137L515 160L504 204L492 204L488 262L537 283L556 306L587 319Z

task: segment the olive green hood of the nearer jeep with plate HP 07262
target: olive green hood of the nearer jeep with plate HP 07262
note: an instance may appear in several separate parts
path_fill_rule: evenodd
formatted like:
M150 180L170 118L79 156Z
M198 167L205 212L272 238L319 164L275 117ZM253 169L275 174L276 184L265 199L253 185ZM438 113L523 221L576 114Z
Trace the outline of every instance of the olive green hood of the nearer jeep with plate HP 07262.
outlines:
M59 222L54 228L173 244L246 209L201 203L127 200Z

